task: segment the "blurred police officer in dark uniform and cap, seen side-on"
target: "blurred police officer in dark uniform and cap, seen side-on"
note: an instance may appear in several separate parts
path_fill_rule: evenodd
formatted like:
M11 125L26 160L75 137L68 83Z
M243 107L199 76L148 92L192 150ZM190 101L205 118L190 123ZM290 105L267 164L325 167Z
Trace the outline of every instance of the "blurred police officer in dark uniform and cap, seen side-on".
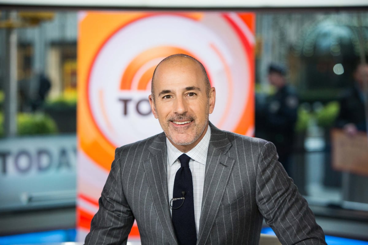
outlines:
M286 69L281 65L270 64L268 80L276 93L260 105L256 101L256 137L275 144L279 161L291 176L291 152L293 149L294 127L299 104L296 91L287 84Z

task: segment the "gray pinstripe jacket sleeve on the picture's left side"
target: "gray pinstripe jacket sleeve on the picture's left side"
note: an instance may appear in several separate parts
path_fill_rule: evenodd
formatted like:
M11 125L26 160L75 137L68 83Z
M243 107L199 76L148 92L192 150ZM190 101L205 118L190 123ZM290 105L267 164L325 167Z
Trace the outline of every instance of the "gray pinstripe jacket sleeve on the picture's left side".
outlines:
M134 216L121 185L120 154L115 151L115 159L99 199L99 210L85 239L86 245L127 244Z

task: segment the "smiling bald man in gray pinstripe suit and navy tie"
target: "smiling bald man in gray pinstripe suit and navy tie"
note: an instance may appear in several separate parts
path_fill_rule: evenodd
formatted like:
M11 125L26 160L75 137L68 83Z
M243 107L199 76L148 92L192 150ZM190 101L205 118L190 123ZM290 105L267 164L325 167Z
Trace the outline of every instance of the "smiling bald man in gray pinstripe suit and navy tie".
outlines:
M160 62L149 100L164 132L116 150L86 244L126 244L134 219L142 244L258 244L263 217L283 244L325 244L274 145L209 122L215 98L199 61ZM192 187L175 194L183 153Z

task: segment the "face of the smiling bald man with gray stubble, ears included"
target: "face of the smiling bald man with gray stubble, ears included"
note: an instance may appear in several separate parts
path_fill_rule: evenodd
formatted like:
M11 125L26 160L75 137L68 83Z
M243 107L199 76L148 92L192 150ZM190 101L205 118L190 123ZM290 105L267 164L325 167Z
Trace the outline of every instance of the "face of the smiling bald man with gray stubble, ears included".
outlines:
M215 106L215 88L208 98L200 66L190 58L175 57L156 69L153 90L155 102L149 96L153 115L170 142L188 152L206 133L208 115Z

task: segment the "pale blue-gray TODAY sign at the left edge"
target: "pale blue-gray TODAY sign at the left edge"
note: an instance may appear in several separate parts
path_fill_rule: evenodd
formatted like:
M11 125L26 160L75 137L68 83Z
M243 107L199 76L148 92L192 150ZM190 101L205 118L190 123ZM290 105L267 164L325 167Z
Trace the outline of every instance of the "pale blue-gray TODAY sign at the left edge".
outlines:
M75 205L76 144L67 134L2 138L0 212Z

